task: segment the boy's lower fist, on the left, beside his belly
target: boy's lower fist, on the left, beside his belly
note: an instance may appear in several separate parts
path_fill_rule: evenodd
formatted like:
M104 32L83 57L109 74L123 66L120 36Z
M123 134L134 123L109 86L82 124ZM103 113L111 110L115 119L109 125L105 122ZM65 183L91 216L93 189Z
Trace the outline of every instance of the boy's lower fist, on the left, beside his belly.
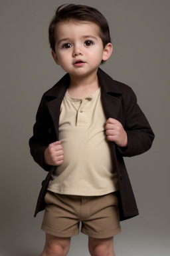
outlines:
M47 165L61 165L63 163L64 155L61 141L55 141L48 145L44 151L44 162Z

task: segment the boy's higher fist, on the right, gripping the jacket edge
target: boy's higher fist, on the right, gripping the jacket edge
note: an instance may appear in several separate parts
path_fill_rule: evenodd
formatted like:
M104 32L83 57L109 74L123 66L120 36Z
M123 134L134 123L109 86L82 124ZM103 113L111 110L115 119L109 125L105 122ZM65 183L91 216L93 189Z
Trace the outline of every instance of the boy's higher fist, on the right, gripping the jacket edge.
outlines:
M106 135L108 141L114 141L116 145L119 147L127 147L128 146L128 136L122 123L118 120L109 118L106 121Z

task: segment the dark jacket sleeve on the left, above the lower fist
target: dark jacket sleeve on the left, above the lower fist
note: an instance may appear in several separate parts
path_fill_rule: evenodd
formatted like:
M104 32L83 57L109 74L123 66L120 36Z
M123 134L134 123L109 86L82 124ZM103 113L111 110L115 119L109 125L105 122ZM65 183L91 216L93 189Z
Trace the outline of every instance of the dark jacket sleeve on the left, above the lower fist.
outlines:
M49 128L48 128L48 118L47 118L47 108L44 101L44 96L42 96L41 103L39 105L36 122L33 127L33 136L29 139L29 146L31 155L35 162L37 162L45 171L50 171L50 165L44 163L44 151L48 145L52 142L50 141Z

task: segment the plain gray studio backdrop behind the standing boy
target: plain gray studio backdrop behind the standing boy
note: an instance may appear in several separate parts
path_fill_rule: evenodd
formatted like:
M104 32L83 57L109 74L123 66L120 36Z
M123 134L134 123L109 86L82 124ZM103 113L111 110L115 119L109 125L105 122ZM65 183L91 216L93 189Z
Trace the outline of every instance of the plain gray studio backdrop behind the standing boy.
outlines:
M114 52L102 66L130 85L155 132L150 151L126 159L140 215L122 222L116 256L167 256L169 245L169 0L66 1L106 16ZM1 0L0 255L38 256L42 213L33 217L46 173L29 154L42 93L64 72L48 47L48 23L65 1ZM72 239L70 256L89 255L87 237Z

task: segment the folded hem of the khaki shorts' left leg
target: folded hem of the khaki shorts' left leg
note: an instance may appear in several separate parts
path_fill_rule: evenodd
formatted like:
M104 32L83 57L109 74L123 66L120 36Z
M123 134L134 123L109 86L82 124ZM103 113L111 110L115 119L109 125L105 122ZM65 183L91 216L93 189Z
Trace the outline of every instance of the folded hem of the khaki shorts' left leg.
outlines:
M54 229L50 229L44 225L41 226L42 231L49 235L54 235L55 237L73 237L74 235L78 235L79 229L74 229L72 231L57 231Z

